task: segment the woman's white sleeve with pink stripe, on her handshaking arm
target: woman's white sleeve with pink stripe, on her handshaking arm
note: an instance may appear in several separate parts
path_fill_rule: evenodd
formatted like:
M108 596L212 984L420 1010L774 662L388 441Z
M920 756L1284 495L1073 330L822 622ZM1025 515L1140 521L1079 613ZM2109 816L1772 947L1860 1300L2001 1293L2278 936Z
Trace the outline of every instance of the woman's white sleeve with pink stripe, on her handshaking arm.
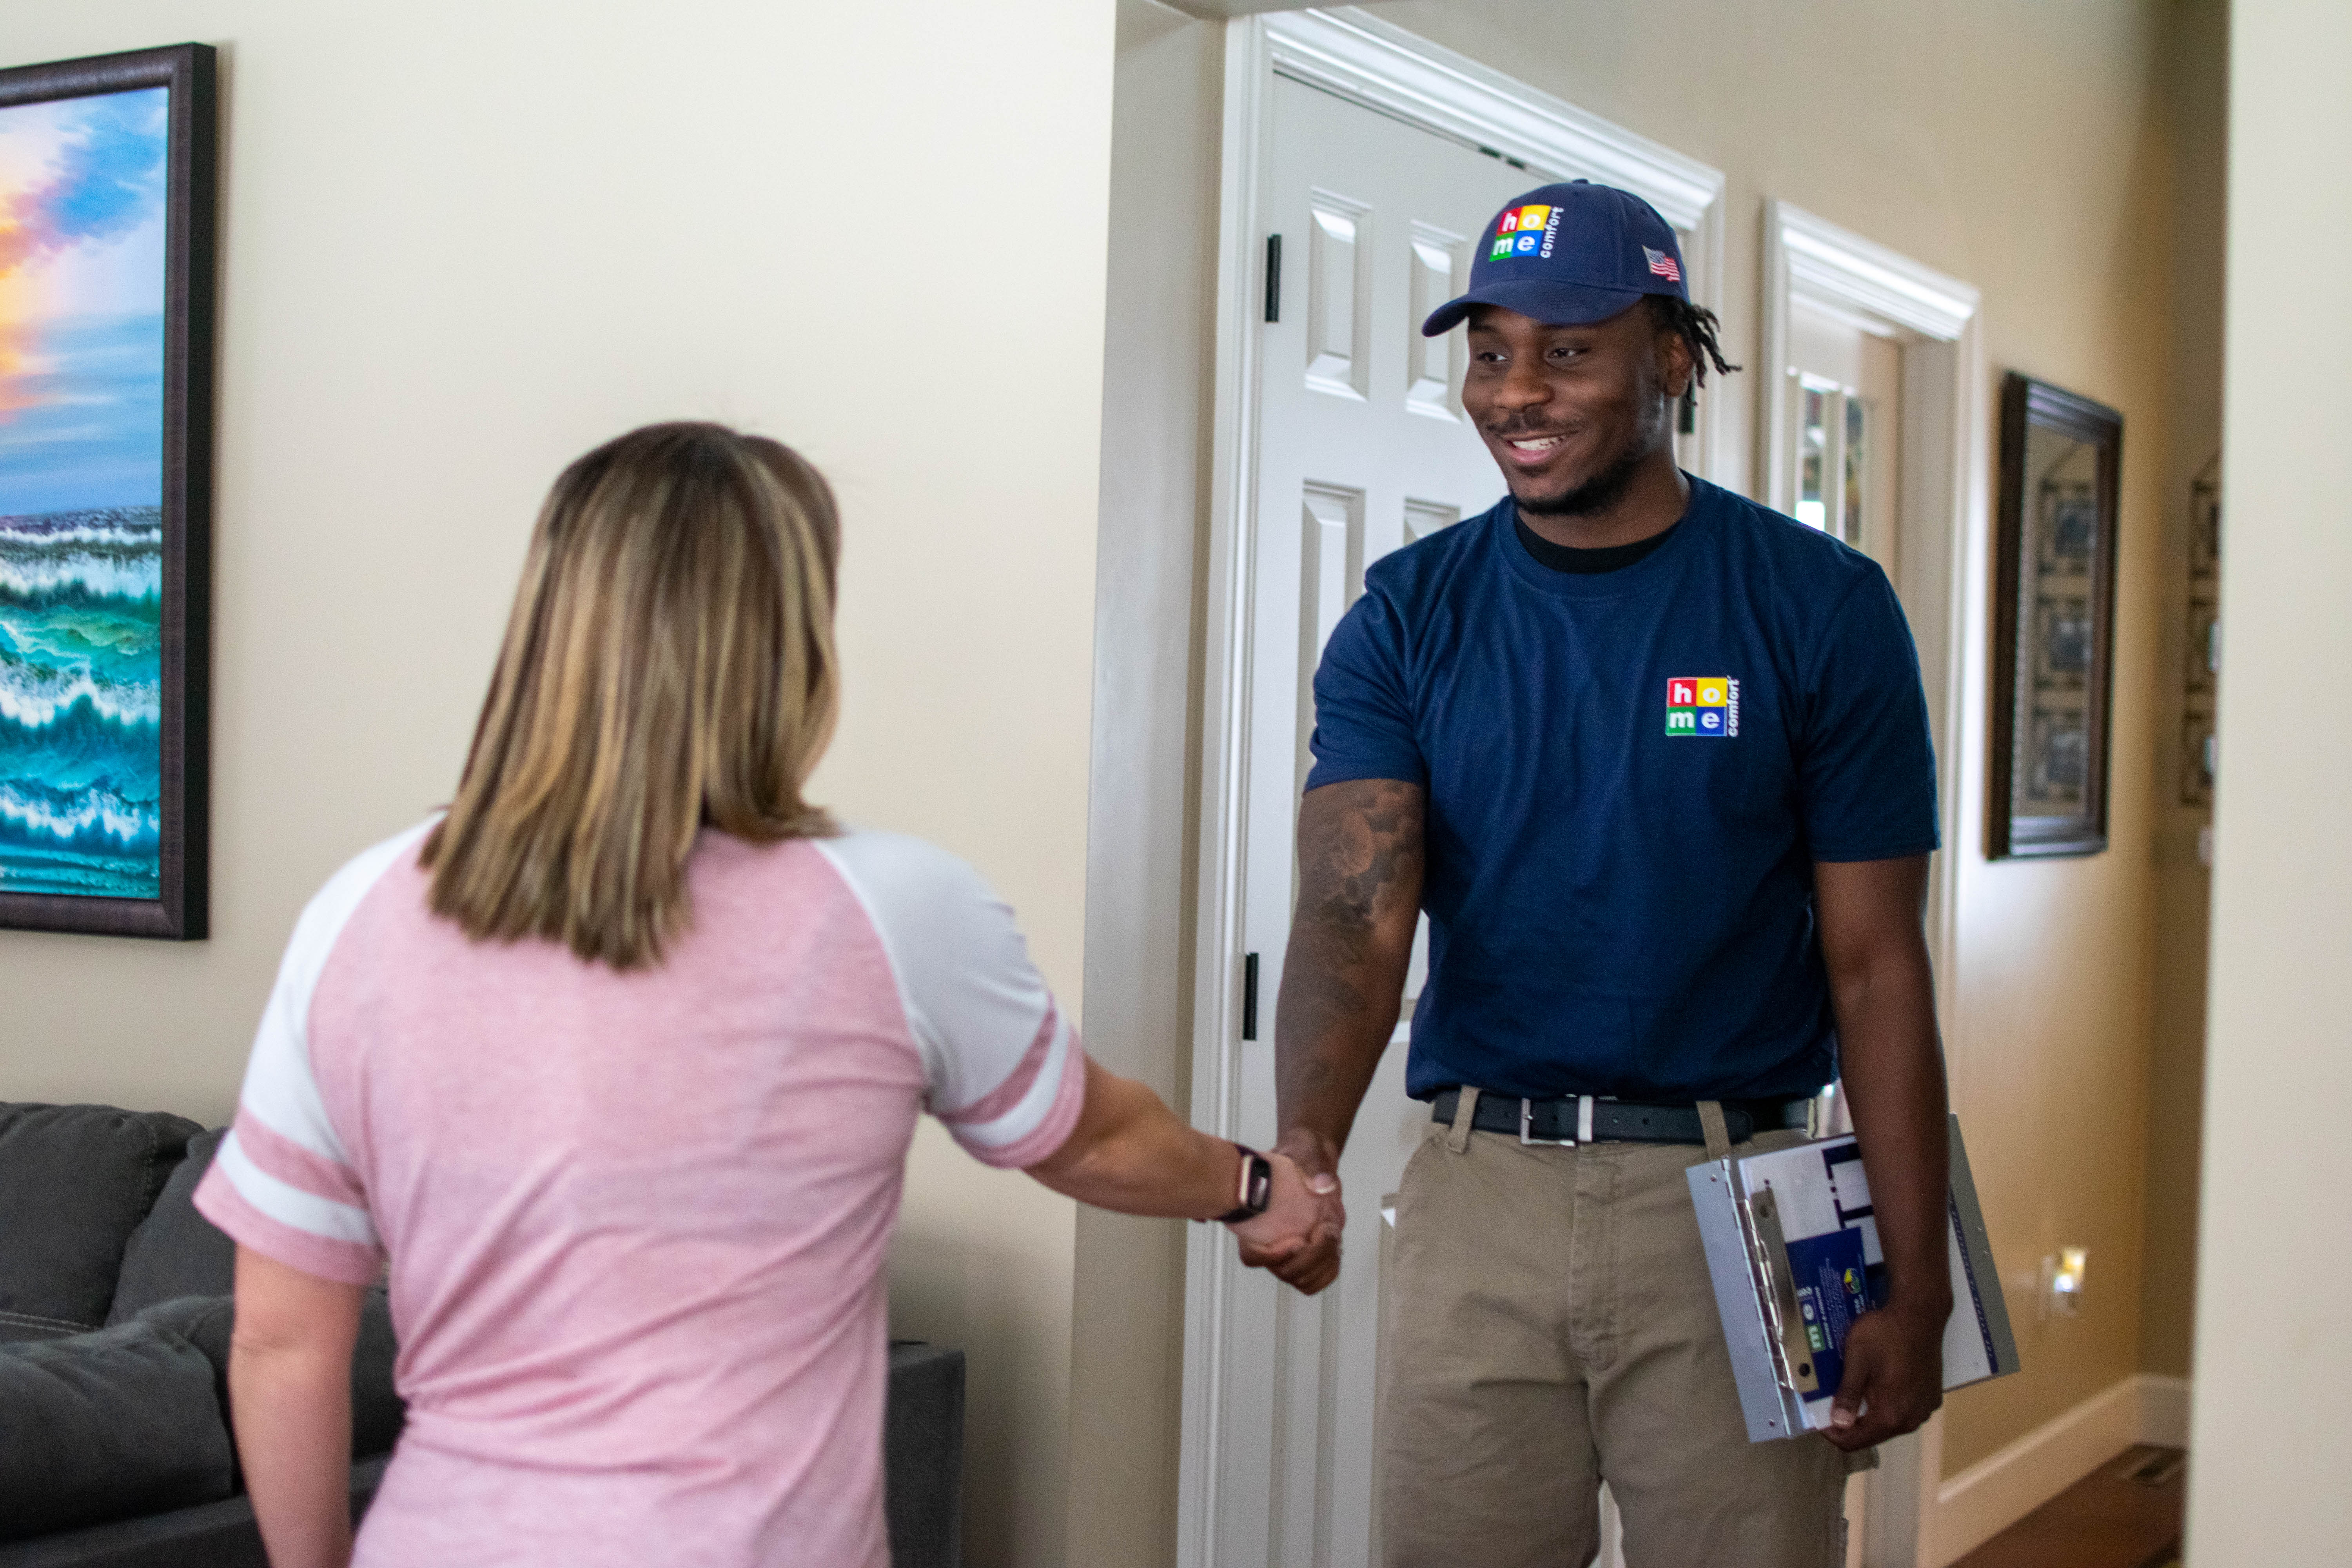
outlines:
M922 839L844 832L814 844L882 940L931 1114L990 1166L1033 1166L1058 1150L1084 1110L1087 1053L1011 907Z

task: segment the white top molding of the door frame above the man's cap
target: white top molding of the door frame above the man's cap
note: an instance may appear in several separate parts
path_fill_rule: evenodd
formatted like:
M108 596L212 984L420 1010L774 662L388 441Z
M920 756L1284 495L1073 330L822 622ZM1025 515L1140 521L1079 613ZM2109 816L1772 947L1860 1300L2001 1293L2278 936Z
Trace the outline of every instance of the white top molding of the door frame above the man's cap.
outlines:
M1515 158L1534 174L1632 190L1675 228L1698 228L1722 169L1658 146L1359 7L1263 16L1275 71L1414 125Z

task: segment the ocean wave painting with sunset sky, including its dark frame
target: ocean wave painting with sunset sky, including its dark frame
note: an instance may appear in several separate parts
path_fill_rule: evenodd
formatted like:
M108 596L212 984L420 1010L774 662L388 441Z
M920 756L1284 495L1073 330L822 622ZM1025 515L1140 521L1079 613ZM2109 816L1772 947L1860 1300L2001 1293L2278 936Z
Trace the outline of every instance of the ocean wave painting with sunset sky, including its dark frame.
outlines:
M214 52L0 71L0 926L205 936Z

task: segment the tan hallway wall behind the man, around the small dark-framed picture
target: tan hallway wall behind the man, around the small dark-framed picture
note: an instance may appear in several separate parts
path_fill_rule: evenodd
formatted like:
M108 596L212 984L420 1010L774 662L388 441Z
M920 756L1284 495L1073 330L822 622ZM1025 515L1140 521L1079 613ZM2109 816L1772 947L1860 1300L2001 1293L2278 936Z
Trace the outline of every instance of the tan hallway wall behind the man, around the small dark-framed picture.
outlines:
M2194 5L2213 14L2213 0ZM2178 226L2197 221L2194 202L2176 216L2176 167L2197 155L2178 146L2192 132L2169 127L2166 92L2185 80L2211 96L2197 85L2216 78L2218 61L2166 49L2176 28L2194 33L2194 19L2180 21L2194 7L2138 0L1867 14L1795 0L1392 0L1369 9L1724 169L1724 315L1736 360L1755 364L1757 214L1773 195L1983 289L1987 409L1999 374L2023 369L2124 411L2107 853L1983 860L1990 651L1983 602L1971 611L1964 835L1950 851L1962 973L1943 983L1959 1020L1947 1041L1955 1088L2027 1371L1950 1401L1945 1469L1959 1472L2138 1371L2143 1312L2169 1314L2173 1331L2185 1324L2178 1260L2187 1234L2176 1225L2161 1237L2171 1265L2143 1291L2143 1232L2152 1100L2176 1121L2183 1103L2194 1105L2194 1041L2183 1046L2178 1034L2161 1058L2169 1077L2152 1093L2159 1058L2150 1013L2159 778L2169 792L2169 726L2178 722L2164 637L2176 618L2183 501L2169 430L2173 404L2194 402L2173 393L2173 374L2211 378L2213 362L2206 346L2201 364L2187 353L2176 367L2171 343L2171 247ZM1192 71L1190 56L1181 71ZM1214 226L1214 202L1200 221ZM2178 284L2197 287L2211 289L2211 273ZM1160 331L1174 343L1197 322ZM1719 393L1733 473L1752 473L1752 378L1755 369ZM2178 416L2197 418L2187 404ZM1105 515L1105 552L1110 527ZM1115 656L1105 642L1105 658ZM2171 1192L2192 1159L2178 1145L2161 1157ZM2032 1300L2037 1260L2065 1244L2091 1248L2089 1302L2084 1316L2044 1326Z

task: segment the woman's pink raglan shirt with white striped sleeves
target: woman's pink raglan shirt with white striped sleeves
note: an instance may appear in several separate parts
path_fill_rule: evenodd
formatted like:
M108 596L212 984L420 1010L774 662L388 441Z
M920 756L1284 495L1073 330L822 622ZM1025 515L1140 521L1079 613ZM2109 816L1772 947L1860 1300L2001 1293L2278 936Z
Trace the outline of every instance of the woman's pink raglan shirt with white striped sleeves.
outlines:
M358 1563L887 1568L884 1255L915 1117L1061 1147L1084 1053L1011 910L917 839L706 832L659 969L473 943L426 827L310 900L198 1208L390 1262L409 1425Z

